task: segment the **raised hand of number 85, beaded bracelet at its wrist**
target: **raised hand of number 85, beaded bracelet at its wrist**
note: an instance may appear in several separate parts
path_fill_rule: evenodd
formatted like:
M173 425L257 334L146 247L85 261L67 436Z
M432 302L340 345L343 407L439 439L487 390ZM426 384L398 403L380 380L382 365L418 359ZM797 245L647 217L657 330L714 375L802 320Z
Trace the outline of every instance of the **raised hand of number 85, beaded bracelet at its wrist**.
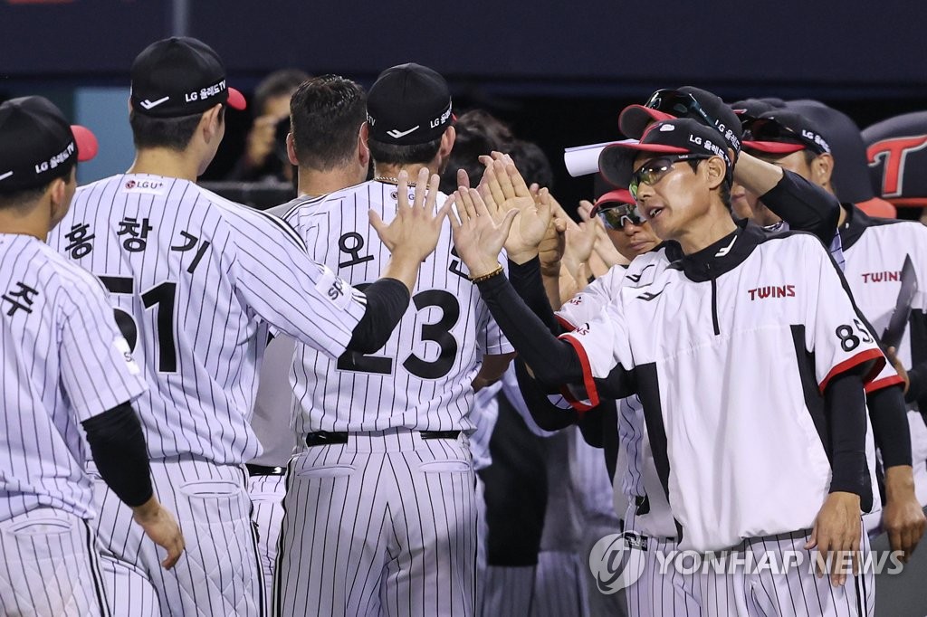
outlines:
M457 254L477 278L499 268L499 252L512 229L518 214L515 208L506 212L498 222L489 214L489 208L476 189L462 186L454 193L457 214L451 213L451 233Z

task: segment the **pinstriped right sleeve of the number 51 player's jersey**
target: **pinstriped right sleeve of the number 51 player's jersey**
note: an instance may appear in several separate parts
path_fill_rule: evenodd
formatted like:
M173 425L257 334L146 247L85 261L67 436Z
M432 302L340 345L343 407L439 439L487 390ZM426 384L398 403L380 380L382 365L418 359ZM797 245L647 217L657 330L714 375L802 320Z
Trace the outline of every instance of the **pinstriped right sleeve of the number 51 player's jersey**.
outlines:
M260 238L235 234L235 291L274 328L331 358L345 352L366 310L366 297L327 266L313 261L289 225L260 215L266 226L285 229ZM287 246L277 243L286 239Z

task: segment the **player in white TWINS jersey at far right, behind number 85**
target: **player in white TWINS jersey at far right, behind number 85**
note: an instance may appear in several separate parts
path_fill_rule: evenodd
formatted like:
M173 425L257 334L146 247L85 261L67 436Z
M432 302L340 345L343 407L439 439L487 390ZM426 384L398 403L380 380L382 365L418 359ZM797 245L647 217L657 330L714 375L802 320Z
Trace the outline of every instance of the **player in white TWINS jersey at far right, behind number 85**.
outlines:
M777 165L793 170L833 194L832 173L837 161L829 145L830 135L822 131L818 122L792 110L774 110L761 114L747 126L751 140L744 143L745 148L755 151L757 156L769 157ZM861 142L858 135L857 140ZM876 333L882 334L895 308L901 287L898 273L905 258L910 256L912 271L919 279L927 276L923 270L925 256L918 253L923 232L927 230L915 222L870 219L853 204L842 204L839 230L846 282L860 311L870 319ZM849 250L850 246L854 250ZM921 294L913 297L910 323L921 320L923 303ZM917 326L913 330L906 326L903 336L895 343L902 350L899 354L904 359L902 365L910 363L912 350L918 348L918 343L911 339L911 333L917 330ZM923 475L927 427L916 409L908 410L907 422L903 418L901 381L889 371L870 384L867 391L876 442L882 452L886 497L884 525L892 547L909 555L924 529L924 515L918 503L927 505L927 476ZM895 420L895 416L898 416L896 422L888 422ZM908 427L909 436L905 430ZM916 474L911 471L912 454L915 454Z

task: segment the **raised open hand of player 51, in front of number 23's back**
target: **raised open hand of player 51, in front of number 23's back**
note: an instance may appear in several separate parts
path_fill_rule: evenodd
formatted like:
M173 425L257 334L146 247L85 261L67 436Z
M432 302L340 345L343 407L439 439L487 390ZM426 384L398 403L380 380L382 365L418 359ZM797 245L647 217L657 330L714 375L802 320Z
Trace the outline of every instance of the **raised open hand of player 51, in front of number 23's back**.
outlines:
M436 210L440 178L438 174L429 178L424 167L418 172L412 205L409 204L409 174L400 171L398 180L396 218L387 225L375 210L370 210L370 224L394 257L422 261L438 246L441 226L451 211L453 198L448 198Z

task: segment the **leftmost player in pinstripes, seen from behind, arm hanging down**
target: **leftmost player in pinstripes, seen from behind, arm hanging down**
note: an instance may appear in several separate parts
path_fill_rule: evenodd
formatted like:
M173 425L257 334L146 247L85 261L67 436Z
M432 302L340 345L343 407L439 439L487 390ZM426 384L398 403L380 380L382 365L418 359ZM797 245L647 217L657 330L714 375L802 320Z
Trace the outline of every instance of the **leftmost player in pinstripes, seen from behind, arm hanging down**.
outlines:
M93 133L40 96L0 105L0 611L108 615L85 447L135 525L168 553L184 538L152 491L132 401L139 367L106 291L44 245L77 187ZM83 429L83 430L82 430ZM86 443L84 442L84 434Z

